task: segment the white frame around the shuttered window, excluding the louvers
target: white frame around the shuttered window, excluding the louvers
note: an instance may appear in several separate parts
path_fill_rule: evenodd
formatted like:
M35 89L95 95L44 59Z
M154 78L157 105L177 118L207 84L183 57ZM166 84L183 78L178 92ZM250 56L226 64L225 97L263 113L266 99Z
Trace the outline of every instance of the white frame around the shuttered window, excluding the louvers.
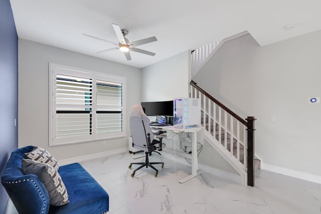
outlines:
M56 138L56 75L69 75L92 79L92 134L86 136L73 136ZM119 132L96 133L96 80L109 81L122 84L122 128ZM112 107L111 107L112 108ZM119 107L118 107L119 108ZM126 77L89 71L64 65L49 63L49 146L70 143L90 142L126 136Z

